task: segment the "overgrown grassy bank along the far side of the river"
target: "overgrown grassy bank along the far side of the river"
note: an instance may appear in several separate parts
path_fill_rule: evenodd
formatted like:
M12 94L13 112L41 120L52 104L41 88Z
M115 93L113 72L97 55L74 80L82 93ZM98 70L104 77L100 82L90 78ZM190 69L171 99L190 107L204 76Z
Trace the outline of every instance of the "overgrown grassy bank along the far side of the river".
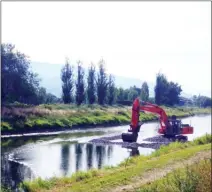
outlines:
M168 108L168 116L187 117L195 114L209 114L211 108ZM1 109L1 132L24 133L59 131L71 128L115 126L128 124L131 107L84 105L40 105L40 106L6 106ZM140 114L141 121L157 119L152 114Z

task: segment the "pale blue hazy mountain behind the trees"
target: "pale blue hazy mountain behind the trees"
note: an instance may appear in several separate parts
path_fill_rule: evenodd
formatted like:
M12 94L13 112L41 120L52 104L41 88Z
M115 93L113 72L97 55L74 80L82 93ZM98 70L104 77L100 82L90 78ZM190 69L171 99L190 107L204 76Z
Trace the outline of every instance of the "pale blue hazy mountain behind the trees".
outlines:
M61 96L61 79L60 72L62 68L62 64L50 64L50 63L41 63L41 62L31 62L32 70L38 73L41 78L41 86L45 87L46 90L57 97ZM88 69L85 68L85 73L87 74ZM122 87L127 89L131 86L141 87L143 80L130 78L130 77L122 77L118 75L114 75L115 83L117 87ZM154 96L154 86L155 83L147 82L149 86L150 97ZM190 94L182 93L183 97L192 97Z

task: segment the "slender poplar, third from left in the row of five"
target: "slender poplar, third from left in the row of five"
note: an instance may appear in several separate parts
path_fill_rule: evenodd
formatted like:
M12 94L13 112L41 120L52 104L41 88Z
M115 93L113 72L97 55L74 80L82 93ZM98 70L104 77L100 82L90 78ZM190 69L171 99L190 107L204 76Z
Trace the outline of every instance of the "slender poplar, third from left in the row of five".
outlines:
M96 100L95 66L93 64L88 70L87 98L89 104L93 104Z

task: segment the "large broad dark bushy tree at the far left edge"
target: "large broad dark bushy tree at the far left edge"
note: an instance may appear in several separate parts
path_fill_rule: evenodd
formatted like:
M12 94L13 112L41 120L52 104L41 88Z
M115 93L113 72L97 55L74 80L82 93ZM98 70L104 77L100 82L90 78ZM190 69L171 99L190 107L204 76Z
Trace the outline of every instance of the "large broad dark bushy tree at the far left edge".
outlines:
M37 103L40 79L30 69L29 58L15 50L15 45L1 44L2 102Z

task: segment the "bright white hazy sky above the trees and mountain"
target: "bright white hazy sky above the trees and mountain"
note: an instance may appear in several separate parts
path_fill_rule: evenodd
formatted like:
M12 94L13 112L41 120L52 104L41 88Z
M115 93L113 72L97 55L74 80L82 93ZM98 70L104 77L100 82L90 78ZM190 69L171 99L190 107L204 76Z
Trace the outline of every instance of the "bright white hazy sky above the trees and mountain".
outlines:
M2 2L2 40L32 61L84 65L211 92L211 2ZM48 71L49 73L50 71Z

